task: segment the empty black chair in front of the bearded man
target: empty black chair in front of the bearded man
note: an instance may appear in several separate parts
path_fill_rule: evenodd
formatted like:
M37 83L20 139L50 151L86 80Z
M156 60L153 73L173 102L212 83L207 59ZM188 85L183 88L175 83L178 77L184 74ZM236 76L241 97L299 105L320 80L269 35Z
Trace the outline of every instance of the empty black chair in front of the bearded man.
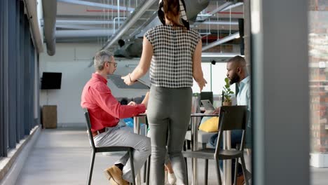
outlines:
M244 144L245 144L245 131L247 125L247 107L246 106L223 106L219 114L219 132L217 139L216 149L201 149L198 151L183 151L186 158L203 158L205 159L205 184L207 184L207 164L209 159L216 161L217 178L221 184L221 174L219 168L219 160L236 159L235 161L235 177L237 180L238 172L238 159L242 162L242 172L244 174L245 182L247 181L247 170L244 159ZM225 130L242 130L242 139L240 140L240 149L221 149L222 134Z

